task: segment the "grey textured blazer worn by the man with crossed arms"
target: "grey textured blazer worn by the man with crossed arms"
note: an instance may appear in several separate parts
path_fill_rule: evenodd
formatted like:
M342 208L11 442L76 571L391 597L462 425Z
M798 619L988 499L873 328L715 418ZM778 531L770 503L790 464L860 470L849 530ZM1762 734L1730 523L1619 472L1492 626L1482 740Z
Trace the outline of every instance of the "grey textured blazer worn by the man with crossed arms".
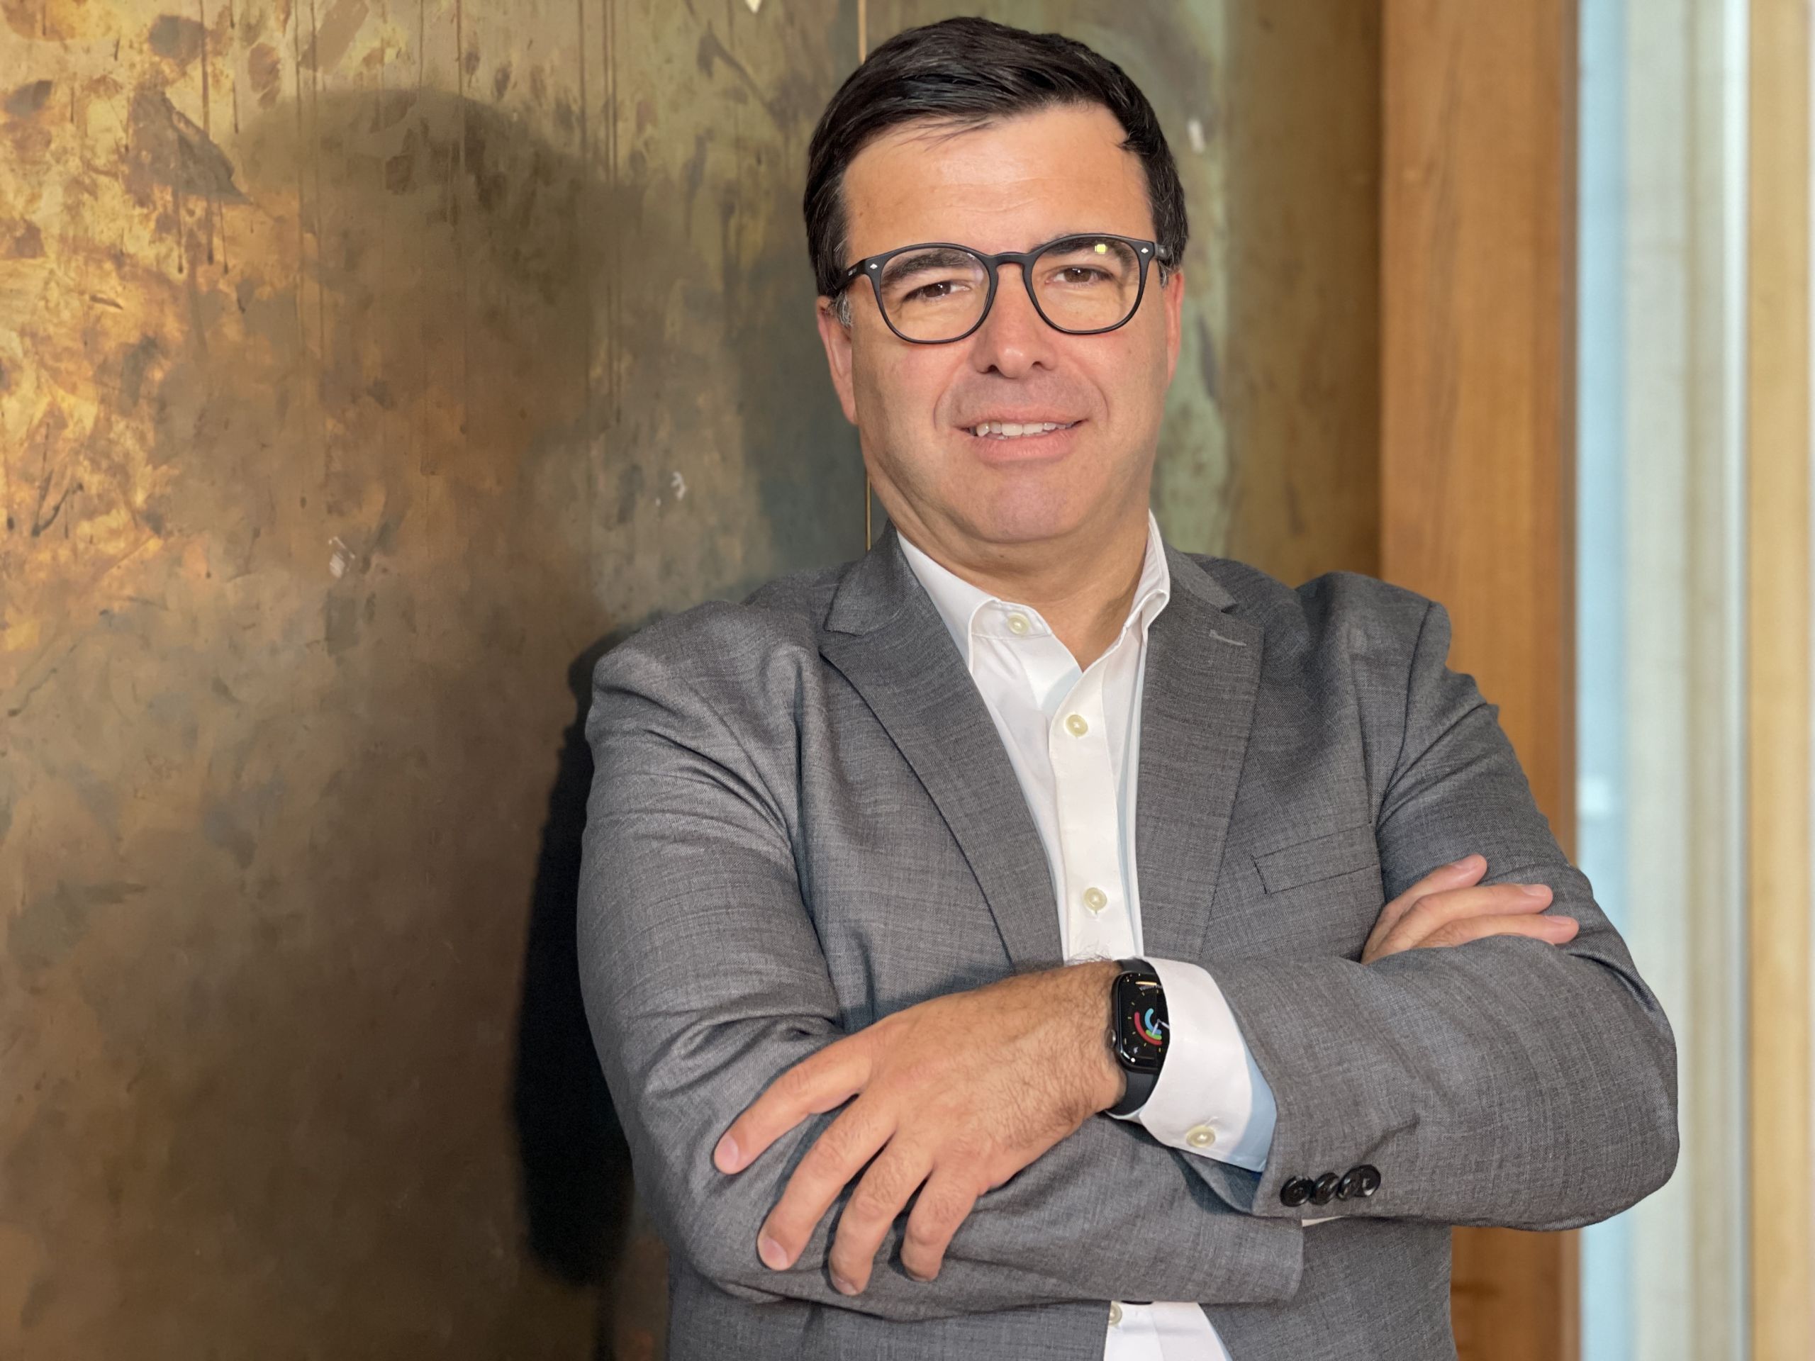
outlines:
M1136 847L1145 945L1221 985L1278 1102L1263 1172L1093 1118L986 1194L937 1281L771 1272L757 1227L829 1121L711 1147L782 1069L926 998L1060 962L1038 831L893 530L862 559L668 617L599 662L579 958L670 1357L1096 1361L1107 1301L1198 1299L1234 1361L1454 1357L1450 1225L1568 1229L1675 1165L1675 1049L1532 802L1443 608L1290 590L1167 548ZM1581 922L1361 965L1381 904L1481 851ZM1369 1199L1294 1178L1379 1169ZM1305 1218L1339 1214L1303 1227Z

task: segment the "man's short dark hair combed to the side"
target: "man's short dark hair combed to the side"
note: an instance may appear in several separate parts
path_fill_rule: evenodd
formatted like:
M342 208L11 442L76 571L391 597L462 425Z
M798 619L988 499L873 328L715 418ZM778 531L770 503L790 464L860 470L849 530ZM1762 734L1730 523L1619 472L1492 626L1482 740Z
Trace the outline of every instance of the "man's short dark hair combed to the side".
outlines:
M1071 103L1116 116L1147 172L1147 203L1167 265L1185 258L1185 189L1172 149L1140 85L1107 56L1058 33L1027 33L987 18L947 18L897 33L831 96L806 152L806 245L820 294L844 276L844 171L875 138L911 122L980 127L998 118ZM844 301L840 298L840 301ZM840 308L842 318L849 318Z

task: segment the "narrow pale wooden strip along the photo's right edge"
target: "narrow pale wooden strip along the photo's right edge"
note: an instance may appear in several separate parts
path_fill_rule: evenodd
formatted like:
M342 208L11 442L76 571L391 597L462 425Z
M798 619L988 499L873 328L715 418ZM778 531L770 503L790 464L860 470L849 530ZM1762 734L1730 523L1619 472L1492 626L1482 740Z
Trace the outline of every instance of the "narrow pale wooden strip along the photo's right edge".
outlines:
M1746 757L1751 1354L1815 1356L1810 1196L1810 16L1751 0Z

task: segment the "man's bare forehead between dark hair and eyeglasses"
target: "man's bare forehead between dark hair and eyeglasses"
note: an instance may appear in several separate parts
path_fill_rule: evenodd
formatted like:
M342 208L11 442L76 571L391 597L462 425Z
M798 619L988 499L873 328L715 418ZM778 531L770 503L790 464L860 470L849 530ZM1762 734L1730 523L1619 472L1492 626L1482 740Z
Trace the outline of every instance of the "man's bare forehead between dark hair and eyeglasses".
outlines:
M1147 176L1102 105L953 131L893 127L844 172L846 259L915 241L1024 250L1067 232L1153 236Z

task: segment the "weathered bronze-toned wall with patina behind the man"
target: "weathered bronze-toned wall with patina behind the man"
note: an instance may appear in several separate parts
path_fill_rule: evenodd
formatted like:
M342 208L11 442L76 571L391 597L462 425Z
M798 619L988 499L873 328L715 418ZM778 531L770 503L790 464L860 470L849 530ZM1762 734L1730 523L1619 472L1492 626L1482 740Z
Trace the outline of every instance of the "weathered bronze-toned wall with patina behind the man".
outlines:
M0 0L0 1356L659 1354L574 722L862 550L804 147L949 9ZM1220 548L1227 15L989 9L1167 118L1160 508Z

